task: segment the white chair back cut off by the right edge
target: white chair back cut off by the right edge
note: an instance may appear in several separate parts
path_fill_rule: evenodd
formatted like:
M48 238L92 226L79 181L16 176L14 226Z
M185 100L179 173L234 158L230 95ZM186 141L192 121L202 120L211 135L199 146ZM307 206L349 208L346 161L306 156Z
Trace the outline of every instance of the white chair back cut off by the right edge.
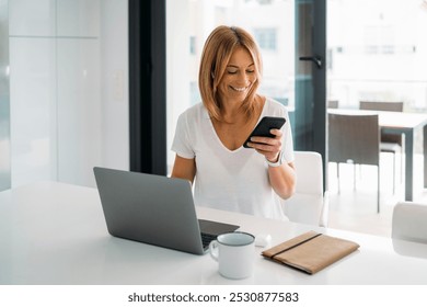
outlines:
M427 204L399 202L393 209L392 238L427 243Z

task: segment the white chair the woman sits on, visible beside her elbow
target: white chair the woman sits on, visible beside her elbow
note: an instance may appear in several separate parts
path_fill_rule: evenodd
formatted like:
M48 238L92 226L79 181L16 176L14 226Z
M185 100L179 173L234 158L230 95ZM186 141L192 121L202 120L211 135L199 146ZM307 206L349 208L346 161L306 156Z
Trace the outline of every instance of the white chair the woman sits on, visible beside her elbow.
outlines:
M322 156L314 151L295 151L296 193L282 201L290 221L327 227L328 198L323 193Z

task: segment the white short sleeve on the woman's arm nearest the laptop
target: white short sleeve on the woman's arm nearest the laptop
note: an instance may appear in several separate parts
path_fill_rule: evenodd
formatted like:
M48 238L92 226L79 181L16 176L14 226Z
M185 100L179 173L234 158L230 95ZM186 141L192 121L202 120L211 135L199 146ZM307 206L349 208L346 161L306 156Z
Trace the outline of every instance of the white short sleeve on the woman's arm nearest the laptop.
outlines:
M178 155L180 157L183 157L185 159L193 159L195 157L195 152L193 150L191 132L188 128L187 121L187 113L184 112L180 115L176 123L175 136L173 138L171 149L175 151L176 155Z

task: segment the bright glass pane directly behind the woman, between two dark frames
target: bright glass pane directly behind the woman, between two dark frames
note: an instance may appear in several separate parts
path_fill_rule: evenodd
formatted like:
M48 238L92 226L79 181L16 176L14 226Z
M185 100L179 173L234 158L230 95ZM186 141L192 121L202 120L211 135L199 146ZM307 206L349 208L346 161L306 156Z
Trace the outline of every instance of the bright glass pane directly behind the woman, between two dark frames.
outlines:
M206 37L220 24L251 32L263 55L262 94L295 104L295 0L168 0L168 149L177 116L200 101L198 66ZM259 18L254 18L254 16ZM263 18L261 18L263 16ZM174 152L168 151L168 169Z

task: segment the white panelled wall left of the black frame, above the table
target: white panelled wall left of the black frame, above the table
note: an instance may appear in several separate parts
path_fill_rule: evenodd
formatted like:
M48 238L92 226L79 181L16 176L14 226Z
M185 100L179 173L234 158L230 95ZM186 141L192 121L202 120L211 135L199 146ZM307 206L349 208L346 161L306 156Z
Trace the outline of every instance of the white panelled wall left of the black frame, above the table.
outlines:
M10 0L9 11L12 186L94 186L94 166L128 169L127 2Z

